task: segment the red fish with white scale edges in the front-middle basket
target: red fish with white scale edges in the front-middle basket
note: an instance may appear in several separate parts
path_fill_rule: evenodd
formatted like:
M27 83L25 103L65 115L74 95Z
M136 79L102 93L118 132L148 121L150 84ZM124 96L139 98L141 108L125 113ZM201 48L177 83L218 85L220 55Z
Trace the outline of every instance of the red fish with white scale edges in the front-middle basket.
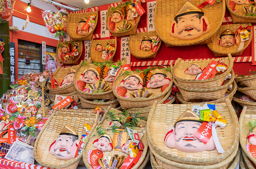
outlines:
M100 150L90 150L88 152L88 162L92 165L92 169L100 169L99 159L103 158L103 153Z

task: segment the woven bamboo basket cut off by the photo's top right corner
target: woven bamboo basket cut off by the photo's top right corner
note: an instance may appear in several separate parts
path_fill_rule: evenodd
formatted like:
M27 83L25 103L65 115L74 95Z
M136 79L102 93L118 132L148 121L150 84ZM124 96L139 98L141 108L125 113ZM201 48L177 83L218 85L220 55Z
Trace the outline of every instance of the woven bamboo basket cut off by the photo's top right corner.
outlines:
M246 4L243 5L239 5L236 4L235 9L237 10L236 12L234 12L228 5L228 0L226 0L226 5L228 8L228 11L231 14L233 23L245 23L245 22L256 22L256 17L252 17L252 16L245 16L245 12L244 12L244 6L248 6Z

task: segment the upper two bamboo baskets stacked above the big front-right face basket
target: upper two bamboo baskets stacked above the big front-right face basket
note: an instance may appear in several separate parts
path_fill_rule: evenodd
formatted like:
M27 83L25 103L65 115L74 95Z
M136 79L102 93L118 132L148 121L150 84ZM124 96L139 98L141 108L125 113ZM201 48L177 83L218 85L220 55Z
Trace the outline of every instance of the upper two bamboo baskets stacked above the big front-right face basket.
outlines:
M222 60L222 58L215 59L215 61L220 60ZM181 58L177 60L172 69L172 75L174 77L173 81L180 90L185 101L192 99L215 100L215 103L223 101L223 98L228 91L228 87L233 84L235 74L233 71L232 56L228 54L228 57L225 57L222 61L227 65L228 69L226 71L219 73L210 79L194 80L196 75L188 75L184 72L189 65L196 62L202 69L204 69L211 60L182 61ZM231 73L231 78L224 82L224 79L229 72ZM234 84L233 86L235 87ZM232 95L232 92L230 93ZM231 95L228 98L231 99Z

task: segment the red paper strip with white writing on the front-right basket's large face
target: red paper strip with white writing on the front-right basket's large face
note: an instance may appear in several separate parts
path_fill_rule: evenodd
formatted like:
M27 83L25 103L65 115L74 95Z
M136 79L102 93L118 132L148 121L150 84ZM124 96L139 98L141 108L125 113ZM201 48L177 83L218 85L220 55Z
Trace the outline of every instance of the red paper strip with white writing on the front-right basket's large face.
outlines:
M195 133L196 138L206 144L212 136L212 123L204 121Z

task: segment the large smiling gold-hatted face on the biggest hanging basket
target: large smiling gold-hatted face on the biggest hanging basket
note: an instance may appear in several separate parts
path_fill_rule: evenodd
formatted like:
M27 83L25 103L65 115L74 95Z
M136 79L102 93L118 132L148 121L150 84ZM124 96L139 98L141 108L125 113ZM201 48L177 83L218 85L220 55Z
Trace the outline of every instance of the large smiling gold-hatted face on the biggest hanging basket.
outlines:
M176 13L170 34L181 40L193 40L210 31L211 26L204 11L189 0Z

